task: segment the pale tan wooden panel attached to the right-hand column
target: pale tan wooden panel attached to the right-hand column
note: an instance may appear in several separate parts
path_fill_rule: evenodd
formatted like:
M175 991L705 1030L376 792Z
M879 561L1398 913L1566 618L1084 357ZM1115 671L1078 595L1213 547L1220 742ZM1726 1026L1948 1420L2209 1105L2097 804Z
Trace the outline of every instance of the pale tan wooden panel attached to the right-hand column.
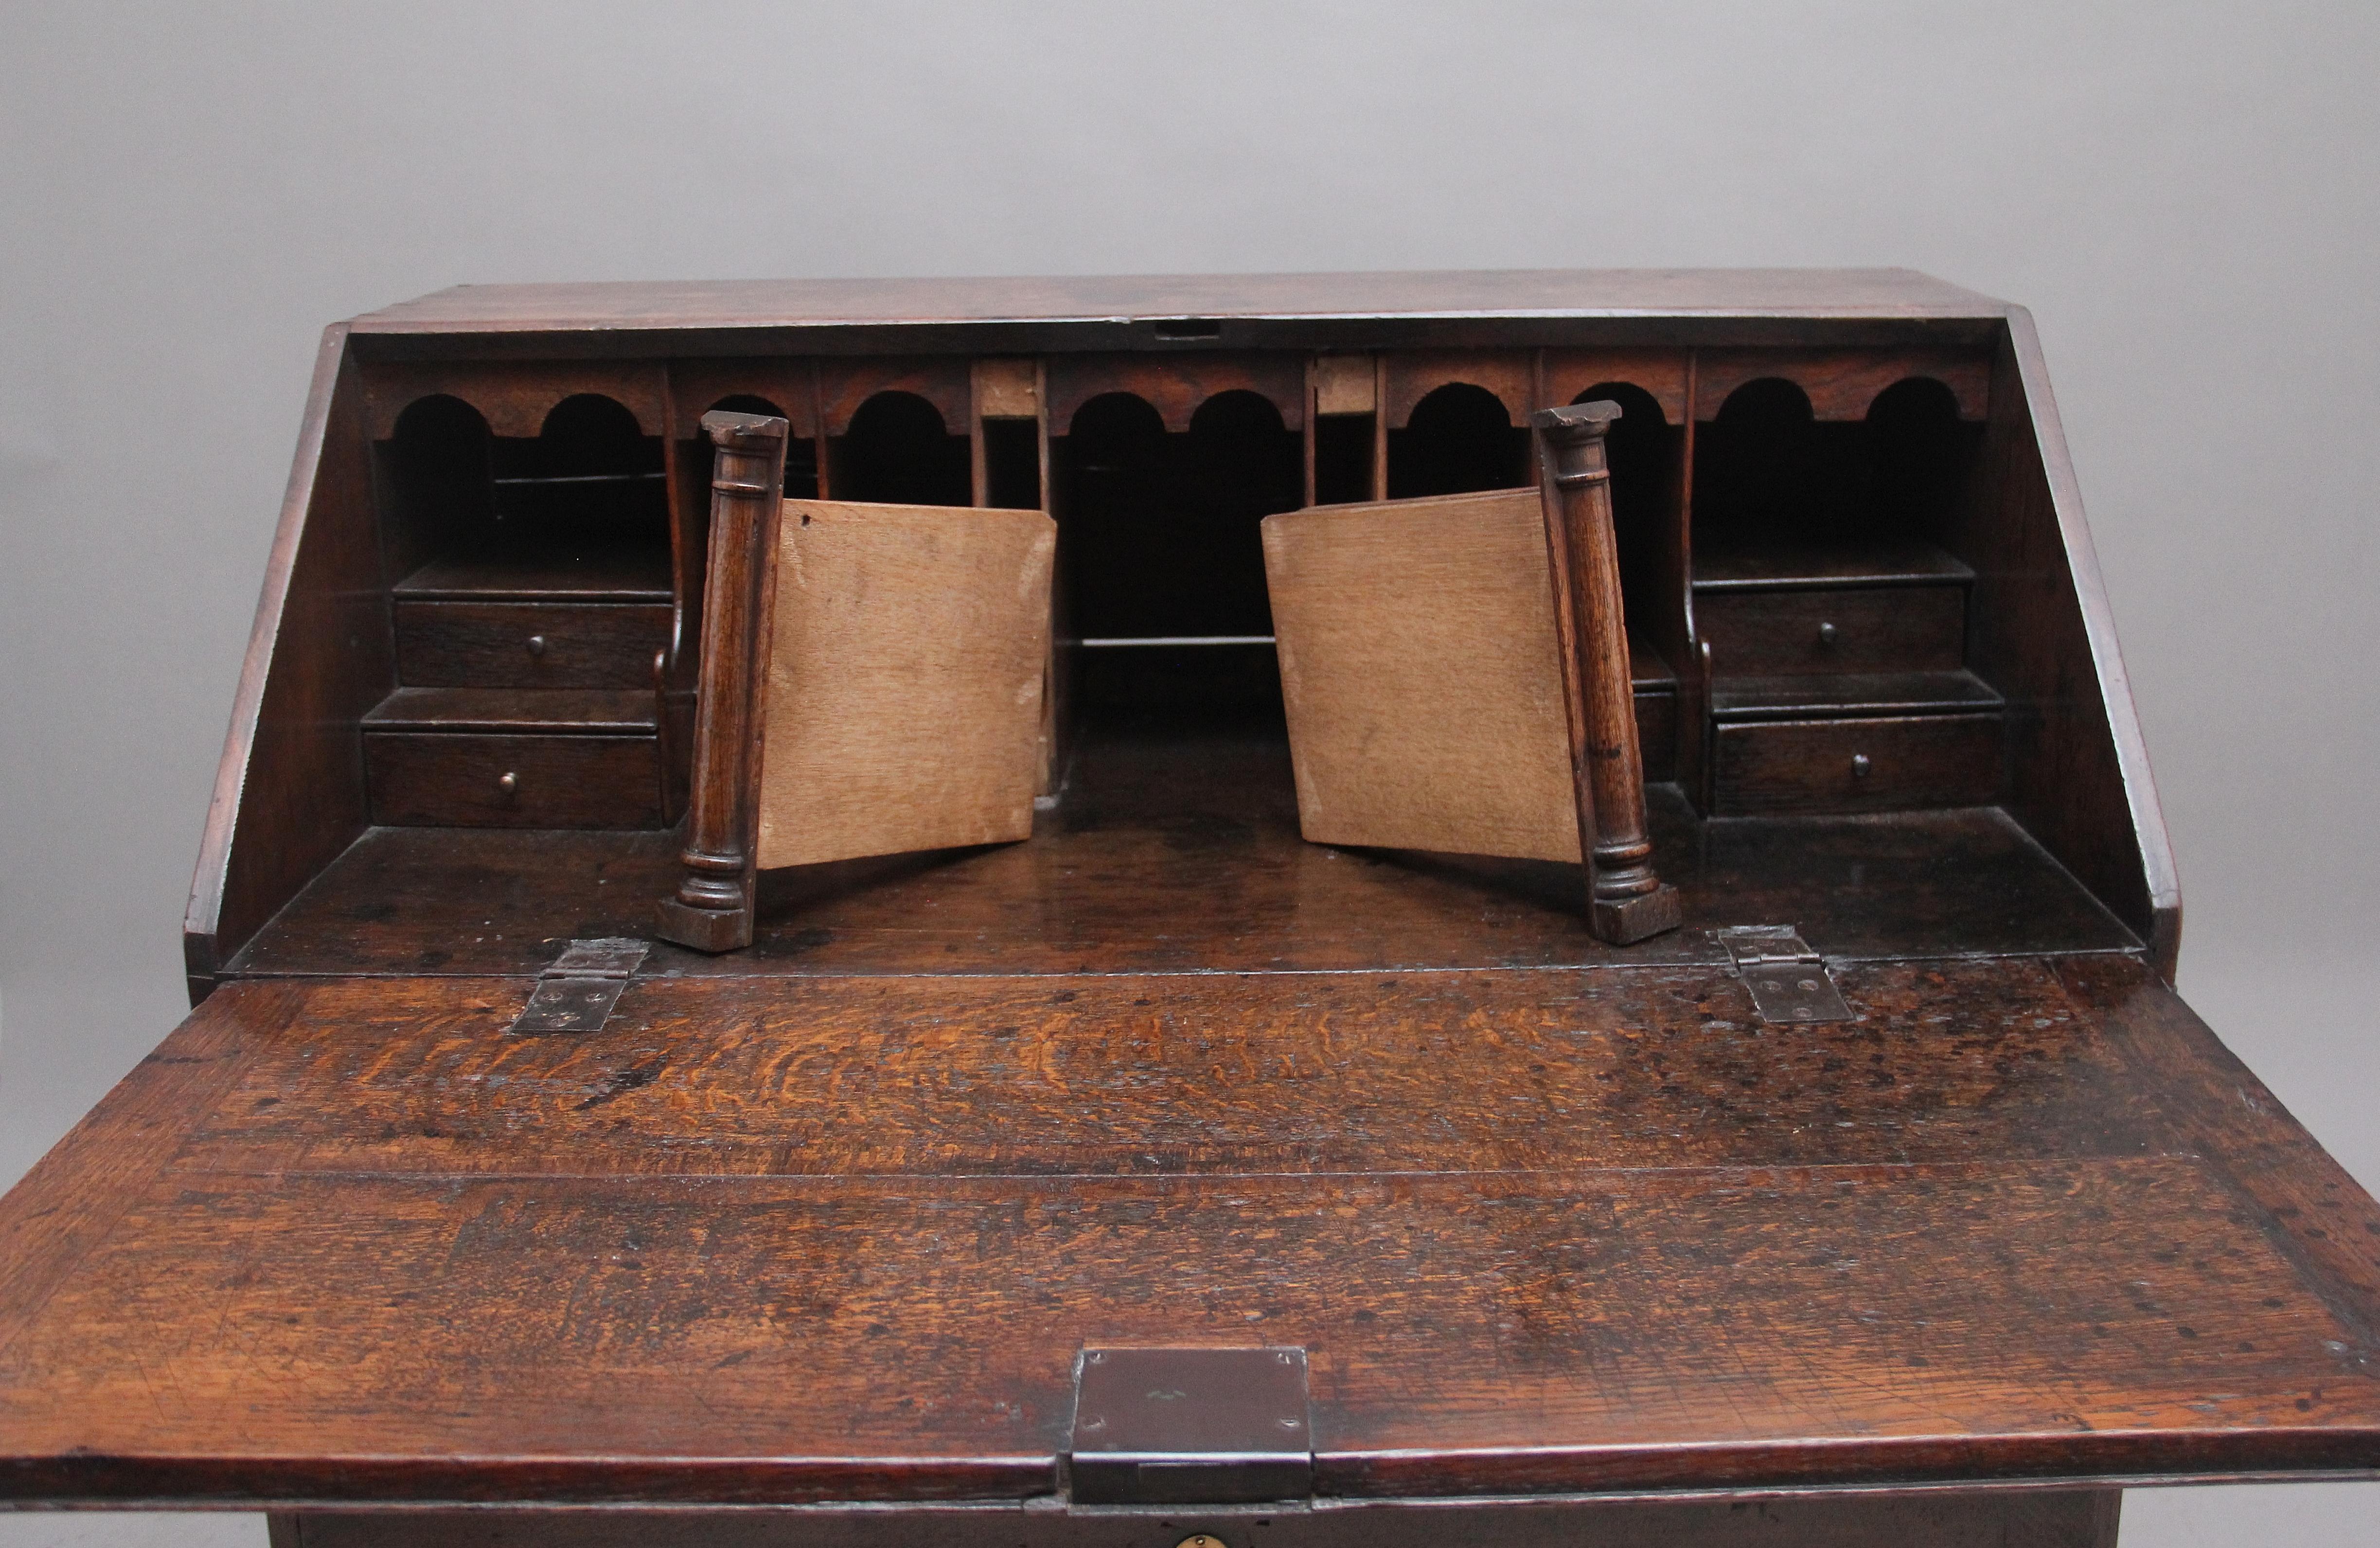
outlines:
M1264 519L1314 843L1580 860L1537 491Z

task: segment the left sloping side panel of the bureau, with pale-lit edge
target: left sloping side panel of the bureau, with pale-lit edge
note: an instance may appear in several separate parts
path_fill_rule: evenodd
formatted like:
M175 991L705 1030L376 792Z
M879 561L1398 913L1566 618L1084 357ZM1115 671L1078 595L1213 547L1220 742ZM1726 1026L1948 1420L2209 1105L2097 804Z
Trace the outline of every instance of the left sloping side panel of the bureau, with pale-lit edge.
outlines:
M395 686L347 329L321 336L181 922L190 1003L364 831L357 724Z

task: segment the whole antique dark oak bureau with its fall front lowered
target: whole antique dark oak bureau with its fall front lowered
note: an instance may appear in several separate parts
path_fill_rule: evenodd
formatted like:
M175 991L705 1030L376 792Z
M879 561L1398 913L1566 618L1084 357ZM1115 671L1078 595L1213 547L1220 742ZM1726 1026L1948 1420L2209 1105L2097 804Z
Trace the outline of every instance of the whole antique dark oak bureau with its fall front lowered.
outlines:
M1626 943L1564 679L1478 600L1545 548L1447 557L1580 402L1680 917ZM721 950L657 915L752 638L707 417L776 436L778 633L890 653L752 657L843 719L771 724ZM909 548L802 548L869 507L1047 543L885 629ZM919 707L904 641L1009 698ZM985 769L1007 826L942 822ZM2380 1210L2178 936L2018 307L445 291L324 338L195 1010L0 1203L0 1491L317 1548L1816 1548L2368 1477Z

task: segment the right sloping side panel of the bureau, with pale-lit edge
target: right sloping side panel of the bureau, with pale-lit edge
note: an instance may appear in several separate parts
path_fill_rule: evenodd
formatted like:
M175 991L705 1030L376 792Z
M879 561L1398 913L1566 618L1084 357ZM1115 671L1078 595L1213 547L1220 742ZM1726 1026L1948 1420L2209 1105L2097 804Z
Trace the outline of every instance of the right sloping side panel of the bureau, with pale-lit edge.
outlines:
M1992 372L1992 419L1949 545L1978 572L1973 667L2011 707L2009 810L2149 941L2171 981L2182 950L2173 843L2023 307Z

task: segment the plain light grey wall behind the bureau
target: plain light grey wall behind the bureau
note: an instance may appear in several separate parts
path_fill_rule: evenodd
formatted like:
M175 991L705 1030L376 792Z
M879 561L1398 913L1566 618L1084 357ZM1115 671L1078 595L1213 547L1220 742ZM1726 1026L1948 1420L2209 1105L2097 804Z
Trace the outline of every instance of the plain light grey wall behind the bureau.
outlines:
M2380 10L0 10L0 1179L181 1015L326 322L457 281L1909 264L2035 310L2182 988L2380 1181ZM2130 1548L2363 1543L2366 1486ZM262 1543L252 1517L0 1543Z

